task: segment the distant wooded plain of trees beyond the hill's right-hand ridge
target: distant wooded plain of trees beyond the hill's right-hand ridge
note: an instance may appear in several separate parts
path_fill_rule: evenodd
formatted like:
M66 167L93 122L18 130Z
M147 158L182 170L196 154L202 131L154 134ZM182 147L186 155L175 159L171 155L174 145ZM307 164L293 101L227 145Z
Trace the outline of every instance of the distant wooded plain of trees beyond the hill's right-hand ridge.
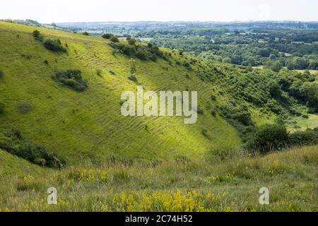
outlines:
M152 37L152 44L183 49L196 57L228 64L262 66L278 61L281 67L288 66L292 70L318 68L318 32L315 30L232 30L214 35L160 32Z

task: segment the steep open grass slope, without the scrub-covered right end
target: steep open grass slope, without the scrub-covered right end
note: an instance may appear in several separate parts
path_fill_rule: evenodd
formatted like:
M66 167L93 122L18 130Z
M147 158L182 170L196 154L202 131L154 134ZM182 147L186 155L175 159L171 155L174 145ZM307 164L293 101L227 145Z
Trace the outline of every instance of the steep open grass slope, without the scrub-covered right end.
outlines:
M194 125L184 125L178 117L122 117L120 95L124 90L136 90L136 83L127 79L128 57L114 57L109 41L99 37L39 29L46 38L60 39L64 46L67 43L67 54L50 52L33 38L33 30L0 23L0 68L4 71L0 101L6 105L1 127L19 129L35 143L64 155L68 162L97 163L110 155L131 160L193 157L212 146L240 144L237 131L209 112L199 115ZM52 80L55 71L67 69L80 69L88 90L77 93ZM97 69L102 70L101 76ZM163 59L136 60L136 69L146 90L198 90L202 109L213 105L211 95L222 90L218 82L204 83L195 71L170 66ZM223 99L226 96L219 101ZM32 110L20 113L17 106L21 102L30 103ZM202 135L203 128L209 131L209 139Z

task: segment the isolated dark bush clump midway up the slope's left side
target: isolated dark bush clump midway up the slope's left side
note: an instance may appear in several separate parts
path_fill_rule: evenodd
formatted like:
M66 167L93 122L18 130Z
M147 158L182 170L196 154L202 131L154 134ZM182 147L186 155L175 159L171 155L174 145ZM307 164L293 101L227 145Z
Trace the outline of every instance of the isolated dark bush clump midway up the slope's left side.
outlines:
M54 79L76 91L83 91L88 87L86 80L83 80L81 76L80 70L57 71Z

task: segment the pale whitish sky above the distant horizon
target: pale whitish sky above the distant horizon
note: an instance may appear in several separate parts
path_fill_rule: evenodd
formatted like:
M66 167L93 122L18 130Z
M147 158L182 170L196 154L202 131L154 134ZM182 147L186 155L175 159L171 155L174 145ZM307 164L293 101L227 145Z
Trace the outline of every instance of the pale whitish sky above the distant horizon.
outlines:
M318 21L317 0L9 0L0 19L98 21Z

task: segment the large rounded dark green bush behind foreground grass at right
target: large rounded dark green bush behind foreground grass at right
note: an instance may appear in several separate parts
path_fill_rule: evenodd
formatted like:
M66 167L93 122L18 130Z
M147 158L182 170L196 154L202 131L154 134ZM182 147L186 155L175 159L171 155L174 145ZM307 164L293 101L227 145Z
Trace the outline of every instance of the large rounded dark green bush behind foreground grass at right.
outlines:
M266 124L261 126L247 142L249 150L268 153L271 150L281 150L288 145L288 131L280 124Z

